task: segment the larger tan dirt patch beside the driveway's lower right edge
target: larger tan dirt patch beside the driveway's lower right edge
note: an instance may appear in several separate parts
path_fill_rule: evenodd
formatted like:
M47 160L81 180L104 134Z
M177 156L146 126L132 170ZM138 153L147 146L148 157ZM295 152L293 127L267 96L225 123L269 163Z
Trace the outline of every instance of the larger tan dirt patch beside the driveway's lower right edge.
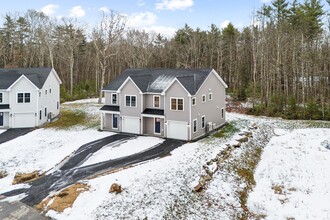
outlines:
M36 205L36 208L47 212L49 210L54 210L56 212L63 212L64 209L72 207L74 201L80 193L88 191L89 186L87 184L76 183L63 189L58 194L50 196Z

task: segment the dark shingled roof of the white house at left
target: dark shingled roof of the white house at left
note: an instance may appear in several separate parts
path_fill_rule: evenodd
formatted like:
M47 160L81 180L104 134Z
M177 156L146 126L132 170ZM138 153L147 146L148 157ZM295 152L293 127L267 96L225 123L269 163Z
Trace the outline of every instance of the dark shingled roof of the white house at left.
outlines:
M19 77L26 76L41 89L52 68L0 68L0 89L8 89Z

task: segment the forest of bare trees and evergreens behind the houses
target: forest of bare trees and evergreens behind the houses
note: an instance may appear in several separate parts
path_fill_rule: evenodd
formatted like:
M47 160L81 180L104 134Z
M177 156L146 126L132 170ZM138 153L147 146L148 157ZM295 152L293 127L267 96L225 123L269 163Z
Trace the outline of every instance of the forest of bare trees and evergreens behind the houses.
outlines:
M126 68L213 68L228 94L253 103L252 114L330 120L329 6L273 0L251 12L247 27L187 23L170 39L128 28L115 11L92 28L36 10L8 12L0 24L0 68L54 67L61 101L101 96Z

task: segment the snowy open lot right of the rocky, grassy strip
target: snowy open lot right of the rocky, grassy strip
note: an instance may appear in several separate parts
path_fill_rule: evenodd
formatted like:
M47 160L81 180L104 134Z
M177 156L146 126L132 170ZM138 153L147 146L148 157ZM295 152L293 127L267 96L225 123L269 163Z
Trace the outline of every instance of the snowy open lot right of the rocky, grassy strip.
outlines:
M255 172L250 210L266 219L330 219L330 129L271 139Z

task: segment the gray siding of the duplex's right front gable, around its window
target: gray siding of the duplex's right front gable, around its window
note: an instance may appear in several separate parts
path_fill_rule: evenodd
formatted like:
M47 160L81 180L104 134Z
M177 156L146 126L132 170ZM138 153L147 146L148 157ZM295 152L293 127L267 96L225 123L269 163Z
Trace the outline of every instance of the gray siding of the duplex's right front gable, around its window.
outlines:
M183 98L183 111L171 110L171 98ZM164 110L166 120L186 122L189 121L190 106L188 93L178 82L174 82L166 91Z

